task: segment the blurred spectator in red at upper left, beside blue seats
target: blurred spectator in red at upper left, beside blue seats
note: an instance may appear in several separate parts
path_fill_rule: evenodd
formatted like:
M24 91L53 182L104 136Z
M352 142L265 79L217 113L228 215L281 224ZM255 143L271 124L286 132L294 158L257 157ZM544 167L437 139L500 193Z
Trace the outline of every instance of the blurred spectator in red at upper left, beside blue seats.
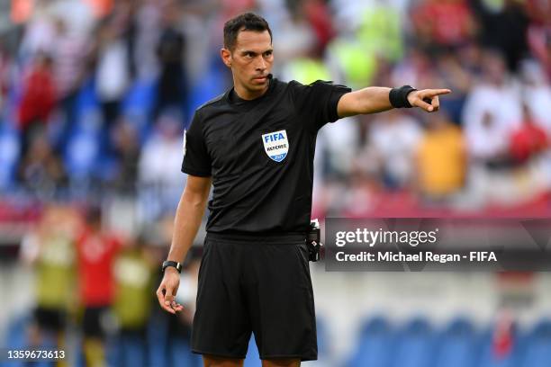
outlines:
M23 96L19 105L22 157L26 156L33 137L46 136L46 123L57 99L51 66L51 58L48 55L39 54L25 77Z

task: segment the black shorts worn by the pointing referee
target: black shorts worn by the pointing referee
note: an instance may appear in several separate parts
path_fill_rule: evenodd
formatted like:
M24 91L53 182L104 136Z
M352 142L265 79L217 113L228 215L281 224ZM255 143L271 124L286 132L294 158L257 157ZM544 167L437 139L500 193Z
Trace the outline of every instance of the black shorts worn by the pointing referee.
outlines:
M245 358L251 332L261 359L317 359L303 237L253 239L209 233L205 238L192 351Z

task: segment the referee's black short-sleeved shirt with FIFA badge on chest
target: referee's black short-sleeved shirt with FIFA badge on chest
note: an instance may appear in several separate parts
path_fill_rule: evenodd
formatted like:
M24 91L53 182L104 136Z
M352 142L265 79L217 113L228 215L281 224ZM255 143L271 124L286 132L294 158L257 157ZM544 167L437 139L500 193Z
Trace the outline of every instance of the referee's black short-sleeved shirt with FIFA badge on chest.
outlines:
M339 119L350 89L270 80L266 94L230 91L203 104L185 132L182 172L212 176L206 229L216 233L304 233L312 210L318 130Z

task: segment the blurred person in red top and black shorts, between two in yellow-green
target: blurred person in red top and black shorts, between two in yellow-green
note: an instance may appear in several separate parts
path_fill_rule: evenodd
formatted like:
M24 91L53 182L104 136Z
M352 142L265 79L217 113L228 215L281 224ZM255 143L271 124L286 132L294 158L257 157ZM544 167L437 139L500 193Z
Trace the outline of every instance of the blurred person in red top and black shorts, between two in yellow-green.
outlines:
M82 329L87 366L103 366L104 338L109 324L109 308L115 291L113 264L121 242L102 228L102 211L92 207L86 213L86 226L77 236L80 304L84 308Z

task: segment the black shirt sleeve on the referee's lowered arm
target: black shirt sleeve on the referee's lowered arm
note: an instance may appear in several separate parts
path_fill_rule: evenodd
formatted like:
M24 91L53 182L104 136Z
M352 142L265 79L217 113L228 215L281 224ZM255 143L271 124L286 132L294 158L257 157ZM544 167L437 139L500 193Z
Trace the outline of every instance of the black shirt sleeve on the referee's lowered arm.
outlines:
M211 157L204 142L203 123L199 112L195 112L189 130L185 131L182 172L187 175L209 177L211 167Z

